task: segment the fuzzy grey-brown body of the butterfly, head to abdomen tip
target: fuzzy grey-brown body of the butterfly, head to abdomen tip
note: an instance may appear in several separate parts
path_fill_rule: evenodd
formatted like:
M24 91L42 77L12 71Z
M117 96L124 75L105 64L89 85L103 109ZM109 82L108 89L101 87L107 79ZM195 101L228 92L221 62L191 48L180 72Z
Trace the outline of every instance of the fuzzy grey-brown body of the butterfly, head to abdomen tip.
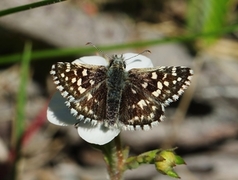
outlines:
M110 62L107 72L106 121L112 126L117 125L119 121L121 96L125 86L126 76L127 72L125 71L123 57L115 55Z

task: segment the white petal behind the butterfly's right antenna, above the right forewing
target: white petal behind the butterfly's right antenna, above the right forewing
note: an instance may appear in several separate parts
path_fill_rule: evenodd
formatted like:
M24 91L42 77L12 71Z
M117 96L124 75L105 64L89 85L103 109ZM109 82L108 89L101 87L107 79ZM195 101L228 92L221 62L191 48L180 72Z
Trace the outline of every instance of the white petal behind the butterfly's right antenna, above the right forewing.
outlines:
M141 54L125 53L123 57L126 60L126 70L133 68L152 68L154 67L151 60Z

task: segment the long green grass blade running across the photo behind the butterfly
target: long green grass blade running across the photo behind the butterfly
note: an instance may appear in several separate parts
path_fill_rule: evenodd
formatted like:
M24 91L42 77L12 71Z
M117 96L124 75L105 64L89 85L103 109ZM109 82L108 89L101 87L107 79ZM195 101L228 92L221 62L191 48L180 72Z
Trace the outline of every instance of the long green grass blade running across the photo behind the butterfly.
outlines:
M190 34L184 36L177 36L177 37L166 37L163 39L153 39L153 40L146 40L146 41L136 41L136 42L129 42L123 44L115 44L115 45L108 45L108 46L100 46L98 49L102 50L103 52L111 51L111 50L122 50L128 48L140 48L146 46L154 46L163 43L171 43L171 42L188 42L194 41L195 39L202 38L202 37L210 37L210 36L218 36L223 35L230 32L235 32L238 30L238 24L228 27L223 27L221 29L217 29L216 31L206 32L206 33L197 33L197 34ZM84 55L95 53L95 49L92 47L80 47L80 48L64 48L64 49L53 49L53 50L41 50L41 51L34 51L32 52L31 59L49 59L53 57L65 57L69 55ZM13 54L0 57L0 64L6 63L13 63L18 62L21 59L21 54Z

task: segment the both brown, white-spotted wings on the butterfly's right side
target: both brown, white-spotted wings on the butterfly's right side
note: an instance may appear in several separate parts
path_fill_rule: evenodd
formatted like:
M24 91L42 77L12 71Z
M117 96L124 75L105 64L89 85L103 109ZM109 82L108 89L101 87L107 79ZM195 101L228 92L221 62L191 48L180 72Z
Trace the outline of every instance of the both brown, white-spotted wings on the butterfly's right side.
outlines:
M187 67L132 69L121 100L120 120L126 129L148 129L164 118L164 106L178 99L190 84Z

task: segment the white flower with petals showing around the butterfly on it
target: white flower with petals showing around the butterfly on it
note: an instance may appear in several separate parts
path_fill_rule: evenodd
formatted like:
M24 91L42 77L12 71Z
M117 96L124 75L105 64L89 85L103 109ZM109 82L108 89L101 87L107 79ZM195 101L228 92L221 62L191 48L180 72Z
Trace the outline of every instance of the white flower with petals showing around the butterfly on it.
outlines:
M129 71L132 68L153 67L151 60L143 55L126 53L123 54L123 57L126 60L126 71ZM85 56L76 59L74 62L81 64L108 65L107 60L101 56ZM77 124L79 136L92 144L106 144L120 133L120 129L107 128L103 125L103 123L93 125L90 122L79 122L79 120L70 113L70 109L65 105L65 99L59 92L54 94L49 103L47 109L47 119L51 123L59 126Z

